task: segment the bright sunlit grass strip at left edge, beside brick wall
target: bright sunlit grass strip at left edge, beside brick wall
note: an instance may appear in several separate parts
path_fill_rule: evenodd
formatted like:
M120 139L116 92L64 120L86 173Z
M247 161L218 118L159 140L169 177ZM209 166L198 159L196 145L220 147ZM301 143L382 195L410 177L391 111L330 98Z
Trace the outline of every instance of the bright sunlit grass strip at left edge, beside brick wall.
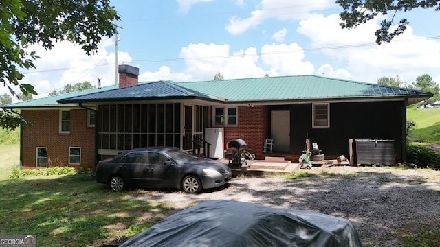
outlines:
M8 178L14 165L20 163L20 145L0 144L0 181Z

